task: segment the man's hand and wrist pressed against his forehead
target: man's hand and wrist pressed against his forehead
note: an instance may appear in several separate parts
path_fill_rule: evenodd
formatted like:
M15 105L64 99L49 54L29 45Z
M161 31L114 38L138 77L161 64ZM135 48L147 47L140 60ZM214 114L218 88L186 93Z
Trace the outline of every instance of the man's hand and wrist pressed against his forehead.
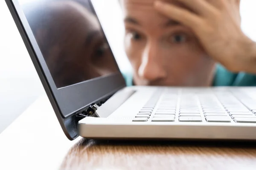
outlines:
M162 1L155 8L191 28L208 55L230 71L256 73L256 44L241 31L240 0L174 1L186 8Z

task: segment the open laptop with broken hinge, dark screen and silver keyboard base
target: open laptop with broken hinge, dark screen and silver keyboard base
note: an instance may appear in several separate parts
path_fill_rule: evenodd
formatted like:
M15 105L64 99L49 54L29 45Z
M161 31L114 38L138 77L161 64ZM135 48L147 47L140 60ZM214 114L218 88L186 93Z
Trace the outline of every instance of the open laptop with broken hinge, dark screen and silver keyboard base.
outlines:
M256 88L127 87L89 0L6 3L68 139L256 139Z

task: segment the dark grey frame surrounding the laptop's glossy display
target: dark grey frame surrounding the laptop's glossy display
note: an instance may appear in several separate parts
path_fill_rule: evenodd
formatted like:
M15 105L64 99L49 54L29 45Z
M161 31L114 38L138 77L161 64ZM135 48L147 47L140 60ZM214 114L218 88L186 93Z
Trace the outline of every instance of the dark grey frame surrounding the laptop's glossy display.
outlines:
M57 88L18 0L6 0L6 3L64 132L69 139L75 139L78 136L77 130L74 132L72 127L79 119L74 115L82 108L108 98L108 96L124 88L126 85L121 72L118 71L105 77L97 77L64 88ZM90 6L94 11L91 3ZM117 64L116 67L118 67ZM67 122L65 122L66 119ZM71 129L67 130L67 126L70 126ZM73 131L73 135L70 135L68 131Z

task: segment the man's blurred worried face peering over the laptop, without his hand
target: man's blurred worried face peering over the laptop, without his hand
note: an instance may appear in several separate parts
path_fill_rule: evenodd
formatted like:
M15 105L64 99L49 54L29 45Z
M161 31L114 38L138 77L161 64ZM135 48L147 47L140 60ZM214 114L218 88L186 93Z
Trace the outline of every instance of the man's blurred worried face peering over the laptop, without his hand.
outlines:
M134 83L211 85L215 62L189 28L159 14L153 3L154 0L121 0L125 51L134 69Z

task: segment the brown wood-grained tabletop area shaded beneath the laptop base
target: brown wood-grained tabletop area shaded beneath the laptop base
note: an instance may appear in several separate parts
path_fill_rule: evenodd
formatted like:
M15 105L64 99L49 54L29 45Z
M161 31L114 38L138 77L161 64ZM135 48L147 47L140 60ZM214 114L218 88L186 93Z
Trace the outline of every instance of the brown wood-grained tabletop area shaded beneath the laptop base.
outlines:
M255 143L134 142L82 139L61 170L70 169L239 170L256 169Z

